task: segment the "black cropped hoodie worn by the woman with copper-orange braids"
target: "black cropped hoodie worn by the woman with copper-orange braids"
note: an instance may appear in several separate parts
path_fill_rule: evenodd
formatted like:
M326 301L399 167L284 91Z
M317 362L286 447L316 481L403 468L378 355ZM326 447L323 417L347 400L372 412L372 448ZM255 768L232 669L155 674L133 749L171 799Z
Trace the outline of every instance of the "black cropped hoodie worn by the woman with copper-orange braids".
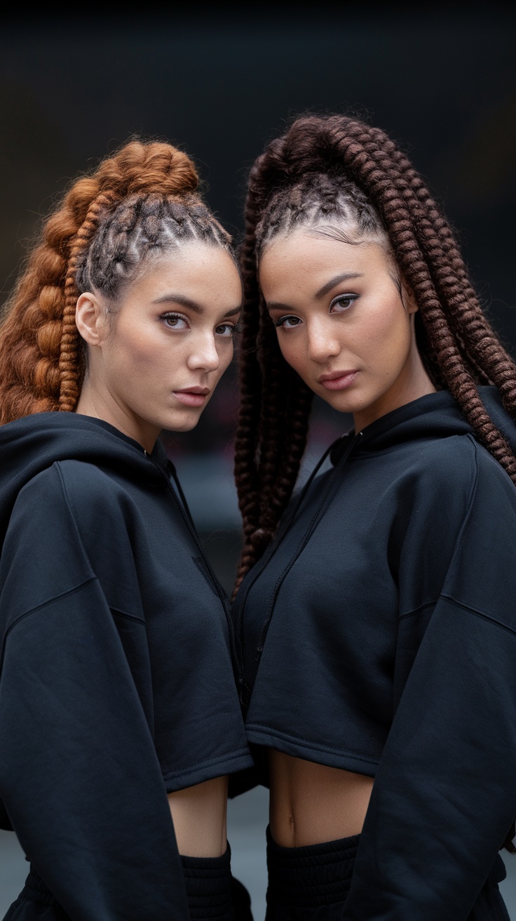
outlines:
M159 442L37 414L0 459L0 824L75 921L187 921L166 792L252 763L224 590Z

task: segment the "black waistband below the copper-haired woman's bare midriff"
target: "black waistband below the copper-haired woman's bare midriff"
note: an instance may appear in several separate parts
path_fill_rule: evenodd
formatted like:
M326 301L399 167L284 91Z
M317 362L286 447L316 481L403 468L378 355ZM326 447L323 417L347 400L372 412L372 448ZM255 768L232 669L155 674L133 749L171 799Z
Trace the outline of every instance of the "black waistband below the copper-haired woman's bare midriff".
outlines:
M231 903L231 849L222 857L181 857L189 915L192 919L225 921L233 917Z

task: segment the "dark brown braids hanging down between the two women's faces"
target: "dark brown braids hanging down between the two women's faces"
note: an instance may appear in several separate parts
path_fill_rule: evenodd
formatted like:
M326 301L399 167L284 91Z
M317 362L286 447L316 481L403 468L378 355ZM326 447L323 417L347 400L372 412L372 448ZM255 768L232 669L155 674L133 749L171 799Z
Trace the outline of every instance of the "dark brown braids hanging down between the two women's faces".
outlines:
M277 174L278 160L281 162L279 147L280 142L273 141L251 169L246 236L240 250L244 307L239 351L240 408L235 437L235 484L244 545L237 566L235 591L269 543L292 495L306 446L313 399L312 392L285 364L259 294L256 231L269 197L269 176ZM283 407L281 450L277 446L276 409L279 407Z

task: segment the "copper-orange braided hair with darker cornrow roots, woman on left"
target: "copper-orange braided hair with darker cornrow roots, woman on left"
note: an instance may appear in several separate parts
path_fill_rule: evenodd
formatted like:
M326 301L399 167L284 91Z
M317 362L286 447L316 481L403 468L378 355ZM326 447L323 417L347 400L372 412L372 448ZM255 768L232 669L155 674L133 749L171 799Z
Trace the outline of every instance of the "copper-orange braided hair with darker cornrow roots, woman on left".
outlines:
M114 312L124 287L189 240L231 251L203 204L191 159L162 142L131 141L74 182L45 221L0 327L0 424L73 412L85 372L75 304L101 294Z

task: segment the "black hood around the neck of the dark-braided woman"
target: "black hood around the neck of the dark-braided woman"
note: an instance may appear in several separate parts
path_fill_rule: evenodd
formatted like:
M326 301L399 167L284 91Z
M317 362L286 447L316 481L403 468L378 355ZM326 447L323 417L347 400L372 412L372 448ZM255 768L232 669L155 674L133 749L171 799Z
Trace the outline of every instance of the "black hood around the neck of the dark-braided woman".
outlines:
M490 419L516 453L516 422L504 409L498 389L484 386L479 387L478 392ZM419 438L428 440L472 432L472 427L464 419L450 391L437 391L408 402L366 426L361 431L360 443L353 454L359 457L361 454L396 448ZM355 432L351 431L338 439L330 455L333 464L338 462L349 437L354 435Z

